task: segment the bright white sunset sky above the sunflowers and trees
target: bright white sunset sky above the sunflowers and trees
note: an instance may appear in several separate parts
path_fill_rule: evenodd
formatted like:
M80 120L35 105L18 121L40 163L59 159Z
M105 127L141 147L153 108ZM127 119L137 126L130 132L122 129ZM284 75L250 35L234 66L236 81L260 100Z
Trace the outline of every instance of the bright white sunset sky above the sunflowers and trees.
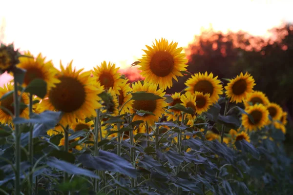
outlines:
M104 60L128 67L145 45L165 38L187 47L202 28L267 30L293 21L293 0L0 0L4 43L92 69ZM4 77L0 77L0 86ZM2 83L1 83L2 82Z

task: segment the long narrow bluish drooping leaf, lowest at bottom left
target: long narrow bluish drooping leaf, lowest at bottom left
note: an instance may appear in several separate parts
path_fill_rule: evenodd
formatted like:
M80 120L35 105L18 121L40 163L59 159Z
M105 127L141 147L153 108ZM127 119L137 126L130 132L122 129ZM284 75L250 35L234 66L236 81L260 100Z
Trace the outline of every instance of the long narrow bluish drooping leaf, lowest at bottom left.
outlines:
M82 169L80 167L77 167L76 165L73 165L73 164L68 163L66 161L63 161L63 160L58 160L55 157L50 157L47 160L46 164L52 168L58 169L60 171L64 171L69 174L89 176L89 177L93 177L93 178L97 178L97 179L100 178L99 176L95 175L93 172L91 172L89 170Z

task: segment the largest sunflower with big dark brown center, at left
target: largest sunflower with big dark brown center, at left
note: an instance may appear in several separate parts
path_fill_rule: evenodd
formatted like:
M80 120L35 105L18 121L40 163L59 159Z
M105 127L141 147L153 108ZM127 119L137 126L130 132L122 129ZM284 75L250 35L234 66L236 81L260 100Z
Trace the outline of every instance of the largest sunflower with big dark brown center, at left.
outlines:
M60 62L61 72L58 74L60 83L42 100L42 107L47 110L62 112L60 123L63 126L75 123L75 119L96 116L95 109L101 108L98 94L103 92L103 86L90 78L90 72L83 69L72 70L72 61L64 69Z

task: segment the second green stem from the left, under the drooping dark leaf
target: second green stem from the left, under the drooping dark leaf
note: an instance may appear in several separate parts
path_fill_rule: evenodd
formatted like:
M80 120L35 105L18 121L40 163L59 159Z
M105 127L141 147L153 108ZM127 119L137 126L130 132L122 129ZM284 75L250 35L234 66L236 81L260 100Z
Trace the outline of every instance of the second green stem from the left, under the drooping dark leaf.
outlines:
M29 95L29 117L31 117L33 114L33 96L32 94ZM31 124L31 127L30 127L30 130L29 130L29 145L28 145L28 148L29 148L29 162L31 164L31 168L30 168L30 171L32 171L32 168L34 166L34 143L33 143L33 124ZM30 188L30 194L33 194L33 189L34 189L34 184L33 184L33 181L34 181L34 177L33 177L33 174L31 174L29 176L29 183L31 184L31 188Z

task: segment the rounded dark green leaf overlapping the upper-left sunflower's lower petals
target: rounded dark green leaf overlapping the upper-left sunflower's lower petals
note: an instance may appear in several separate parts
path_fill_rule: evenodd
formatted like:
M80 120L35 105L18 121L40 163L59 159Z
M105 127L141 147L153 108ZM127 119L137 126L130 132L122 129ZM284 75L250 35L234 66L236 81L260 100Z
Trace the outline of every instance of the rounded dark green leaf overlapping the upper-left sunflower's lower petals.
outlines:
M43 79L35 78L29 83L24 91L36 95L39 98L44 98L47 94L47 83Z

